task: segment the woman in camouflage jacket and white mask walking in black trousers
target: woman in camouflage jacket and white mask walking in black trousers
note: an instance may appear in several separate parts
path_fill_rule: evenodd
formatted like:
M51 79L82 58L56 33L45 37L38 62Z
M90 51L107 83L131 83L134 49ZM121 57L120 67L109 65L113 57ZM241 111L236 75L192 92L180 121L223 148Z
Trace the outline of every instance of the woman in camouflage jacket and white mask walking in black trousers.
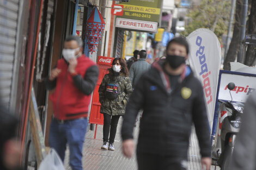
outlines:
M104 116L103 145L101 149L115 150L113 143L118 120L125 113L125 106L131 93L131 81L125 60L115 58L112 62L112 68L104 76L99 87L100 113Z

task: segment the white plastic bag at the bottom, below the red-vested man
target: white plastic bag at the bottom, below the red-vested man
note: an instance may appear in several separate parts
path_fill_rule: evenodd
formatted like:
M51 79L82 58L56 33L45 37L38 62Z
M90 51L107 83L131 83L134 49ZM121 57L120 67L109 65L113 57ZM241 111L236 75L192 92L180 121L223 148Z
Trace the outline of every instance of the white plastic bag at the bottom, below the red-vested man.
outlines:
M40 163L38 170L65 170L65 167L58 153L51 148L48 155Z

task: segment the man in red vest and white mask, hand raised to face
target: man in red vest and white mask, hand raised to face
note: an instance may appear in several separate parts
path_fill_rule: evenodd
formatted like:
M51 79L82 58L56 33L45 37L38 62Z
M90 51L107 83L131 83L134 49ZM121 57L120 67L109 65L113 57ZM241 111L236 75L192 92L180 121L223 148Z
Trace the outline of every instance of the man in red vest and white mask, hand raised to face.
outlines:
M88 106L97 82L99 68L82 54L82 40L69 36L64 42L64 58L46 80L46 89L54 92L53 119L49 142L64 161L66 144L70 149L72 170L82 170L82 148L87 130Z

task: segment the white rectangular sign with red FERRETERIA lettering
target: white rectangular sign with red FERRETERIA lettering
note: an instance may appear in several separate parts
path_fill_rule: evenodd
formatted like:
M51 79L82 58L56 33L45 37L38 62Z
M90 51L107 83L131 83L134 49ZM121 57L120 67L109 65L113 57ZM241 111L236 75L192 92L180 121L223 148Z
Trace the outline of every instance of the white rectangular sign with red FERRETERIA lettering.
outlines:
M157 22L141 21L141 20L130 20L126 18L117 18L115 27L143 30L144 32L156 32Z

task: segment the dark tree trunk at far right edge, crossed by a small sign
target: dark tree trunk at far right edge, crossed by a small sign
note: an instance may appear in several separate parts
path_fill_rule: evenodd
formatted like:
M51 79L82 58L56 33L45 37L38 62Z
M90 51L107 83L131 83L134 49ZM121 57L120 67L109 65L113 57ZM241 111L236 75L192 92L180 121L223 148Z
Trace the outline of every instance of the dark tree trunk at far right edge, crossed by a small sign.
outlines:
M251 13L248 19L248 34L256 34L256 1L252 1ZM255 45L248 45L245 65L252 66L256 57Z

